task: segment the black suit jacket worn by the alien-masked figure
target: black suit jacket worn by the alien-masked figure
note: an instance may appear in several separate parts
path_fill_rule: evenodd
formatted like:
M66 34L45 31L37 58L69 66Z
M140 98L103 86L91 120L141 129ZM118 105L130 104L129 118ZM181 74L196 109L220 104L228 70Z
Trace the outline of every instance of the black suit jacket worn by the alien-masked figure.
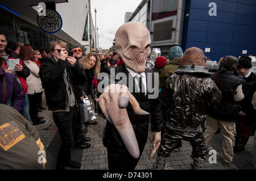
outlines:
M123 83L126 84L126 86L129 87L129 71L125 68L125 64L115 67L115 68L106 68L102 72L107 73L110 76L110 70L115 70L115 75L118 73L125 73L127 79L117 79L115 78L115 83L120 83L120 81L123 81ZM113 73L113 72L112 72ZM150 76L149 73L153 73L153 71L146 69L145 70L146 77L147 77L147 85L148 85L148 76ZM115 75L113 77L115 77ZM130 80L131 81L131 80ZM151 79L152 85L154 85L154 77ZM100 80L98 81L100 83ZM109 82L110 83L110 82ZM158 86L158 85L157 85ZM158 90L158 89L157 89ZM139 106L142 108L142 110L150 112L150 115L153 120L153 125L155 131L162 131L163 129L163 120L162 120L162 110L160 108L160 99L159 97L156 99L148 99L148 95L152 94L148 92L145 96L137 93L137 92L131 92L131 94L135 97L135 99L138 101ZM129 119L131 121L131 124L133 125L133 129L135 132L135 136L137 137L139 149L142 153L144 149L144 145L147 142L147 133L148 133L148 123L150 119L150 115L136 115L133 107L129 103L127 108L127 113L129 116ZM107 121L106 125L106 131L105 131L105 137L104 137L104 145L109 149L114 150L123 150L125 151L125 145L123 144L123 141L121 137L119 136L119 133L117 132L117 129L115 129L114 125L109 123Z

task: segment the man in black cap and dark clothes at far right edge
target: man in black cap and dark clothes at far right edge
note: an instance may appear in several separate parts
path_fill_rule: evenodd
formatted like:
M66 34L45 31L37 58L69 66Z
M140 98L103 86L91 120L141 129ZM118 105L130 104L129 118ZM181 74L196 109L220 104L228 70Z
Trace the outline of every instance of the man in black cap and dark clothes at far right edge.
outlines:
M256 111L251 104L253 94L256 91L256 75L251 71L251 58L243 56L239 58L237 73L245 79L243 84L243 93L245 98L239 102L242 111L240 112L240 118L236 123L236 142L234 146L234 152L240 152L245 150L245 145L249 140L251 132L254 133L253 124L255 124Z

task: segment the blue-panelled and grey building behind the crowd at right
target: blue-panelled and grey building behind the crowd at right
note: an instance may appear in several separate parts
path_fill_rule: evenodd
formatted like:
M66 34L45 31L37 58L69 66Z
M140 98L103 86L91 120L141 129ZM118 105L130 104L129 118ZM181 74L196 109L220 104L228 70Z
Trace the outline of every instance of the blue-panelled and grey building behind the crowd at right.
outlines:
M144 23L163 56L174 45L198 47L215 61L256 53L255 0L143 0L128 21Z

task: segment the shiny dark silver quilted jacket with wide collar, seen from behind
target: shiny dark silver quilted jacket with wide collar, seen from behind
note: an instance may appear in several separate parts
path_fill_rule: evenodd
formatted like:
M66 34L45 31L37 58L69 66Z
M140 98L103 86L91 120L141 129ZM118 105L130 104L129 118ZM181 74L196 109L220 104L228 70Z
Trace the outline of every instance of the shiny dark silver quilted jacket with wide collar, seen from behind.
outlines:
M162 106L166 126L184 131L199 130L207 119L207 108L217 109L221 91L203 66L180 66L166 79Z

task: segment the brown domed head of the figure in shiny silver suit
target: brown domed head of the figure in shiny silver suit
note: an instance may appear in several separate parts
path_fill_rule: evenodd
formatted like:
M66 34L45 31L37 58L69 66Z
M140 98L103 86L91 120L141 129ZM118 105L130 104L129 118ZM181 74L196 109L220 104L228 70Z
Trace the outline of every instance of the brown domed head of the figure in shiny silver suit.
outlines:
M200 65L207 67L203 50L191 47L185 50L180 65Z

